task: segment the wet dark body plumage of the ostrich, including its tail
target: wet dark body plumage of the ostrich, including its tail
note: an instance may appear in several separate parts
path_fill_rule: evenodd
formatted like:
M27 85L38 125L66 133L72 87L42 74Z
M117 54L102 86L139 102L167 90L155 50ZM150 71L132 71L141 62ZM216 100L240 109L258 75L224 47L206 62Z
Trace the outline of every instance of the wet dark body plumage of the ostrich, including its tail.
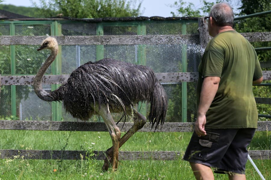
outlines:
M111 111L123 111L125 116L126 109L142 101L150 102L148 120L157 129L167 111L167 95L151 68L109 58L79 66L66 84L49 94L84 121L101 105L108 103Z

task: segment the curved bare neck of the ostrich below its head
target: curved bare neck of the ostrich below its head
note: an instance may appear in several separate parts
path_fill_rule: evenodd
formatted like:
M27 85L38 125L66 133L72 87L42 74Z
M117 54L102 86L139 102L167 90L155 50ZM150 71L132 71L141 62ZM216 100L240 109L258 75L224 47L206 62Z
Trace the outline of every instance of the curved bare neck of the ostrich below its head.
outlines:
M51 65L51 63L55 60L57 54L58 54L58 47L51 50L50 56L43 63L43 65L37 72L36 77L34 78L34 82L33 82L34 91L37 94L37 96L44 101L55 101L55 99L50 95L50 93L47 93L42 88L41 81L42 81L42 77L44 73L46 72L48 67Z

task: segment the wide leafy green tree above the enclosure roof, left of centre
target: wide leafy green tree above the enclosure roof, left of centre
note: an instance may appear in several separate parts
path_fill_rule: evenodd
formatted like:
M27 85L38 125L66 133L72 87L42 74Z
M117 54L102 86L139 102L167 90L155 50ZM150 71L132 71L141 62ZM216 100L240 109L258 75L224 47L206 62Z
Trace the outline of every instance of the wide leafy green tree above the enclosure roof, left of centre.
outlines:
M44 17L55 17L62 14L73 18L99 17L137 17L140 14L142 1L136 7L137 0L40 0L38 14Z

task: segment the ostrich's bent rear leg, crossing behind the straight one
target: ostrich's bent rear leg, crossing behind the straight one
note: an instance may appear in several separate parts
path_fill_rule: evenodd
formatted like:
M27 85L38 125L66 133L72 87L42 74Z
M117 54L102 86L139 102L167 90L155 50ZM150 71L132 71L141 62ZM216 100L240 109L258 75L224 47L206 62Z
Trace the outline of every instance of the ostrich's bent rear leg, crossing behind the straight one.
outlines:
M140 130L145 124L146 124L146 117L143 116L142 114L140 114L138 111L136 111L135 108L133 108L133 116L134 116L134 124L133 126L127 131L127 133L125 133L121 139L120 139L120 143L119 143L119 148L133 135L135 134L138 130ZM113 157L113 152L114 152L114 147L112 146L111 148L107 149L106 151L106 155L107 157L104 159L104 165L102 167L103 171L107 171L109 168L109 165L112 163L113 166L113 162L112 162L112 158Z

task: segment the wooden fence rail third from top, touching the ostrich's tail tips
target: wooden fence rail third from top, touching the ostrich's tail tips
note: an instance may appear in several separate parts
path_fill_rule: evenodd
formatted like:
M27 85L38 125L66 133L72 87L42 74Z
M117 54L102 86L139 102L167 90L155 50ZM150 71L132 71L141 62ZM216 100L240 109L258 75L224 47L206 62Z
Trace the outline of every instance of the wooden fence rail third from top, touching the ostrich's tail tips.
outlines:
M118 123L121 132L127 132L133 123ZM11 121L0 120L0 130L44 130L44 131L105 131L103 122L66 122L66 121ZM164 123L155 132L193 132L194 123ZM271 131L271 121L258 121L257 131ZM154 132L146 123L138 132Z

